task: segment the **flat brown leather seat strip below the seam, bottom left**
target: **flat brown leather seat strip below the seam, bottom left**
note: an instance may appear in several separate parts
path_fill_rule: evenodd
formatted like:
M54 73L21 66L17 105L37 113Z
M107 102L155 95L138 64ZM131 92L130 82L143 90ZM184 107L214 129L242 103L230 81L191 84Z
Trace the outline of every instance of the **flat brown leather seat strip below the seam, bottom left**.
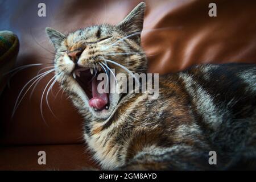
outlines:
M46 165L38 164L38 152L46 151ZM82 144L9 146L1 148L0 170L95 169Z

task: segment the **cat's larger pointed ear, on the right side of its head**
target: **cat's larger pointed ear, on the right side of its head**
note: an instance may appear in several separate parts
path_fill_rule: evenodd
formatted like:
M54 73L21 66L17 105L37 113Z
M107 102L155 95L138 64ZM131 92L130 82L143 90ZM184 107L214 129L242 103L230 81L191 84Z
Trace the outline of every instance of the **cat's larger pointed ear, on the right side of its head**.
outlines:
M143 28L145 6L144 2L139 3L129 15L118 24L118 27L129 34L138 32L138 35L140 35Z

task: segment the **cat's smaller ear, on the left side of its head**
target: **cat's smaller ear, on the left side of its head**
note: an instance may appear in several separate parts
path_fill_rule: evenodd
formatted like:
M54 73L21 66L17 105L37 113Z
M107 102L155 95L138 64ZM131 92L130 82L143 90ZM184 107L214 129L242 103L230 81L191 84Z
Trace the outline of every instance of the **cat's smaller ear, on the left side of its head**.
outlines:
M63 42L63 40L66 38L66 36L61 32L49 27L46 28L46 34L48 35L55 49L59 48L61 42Z

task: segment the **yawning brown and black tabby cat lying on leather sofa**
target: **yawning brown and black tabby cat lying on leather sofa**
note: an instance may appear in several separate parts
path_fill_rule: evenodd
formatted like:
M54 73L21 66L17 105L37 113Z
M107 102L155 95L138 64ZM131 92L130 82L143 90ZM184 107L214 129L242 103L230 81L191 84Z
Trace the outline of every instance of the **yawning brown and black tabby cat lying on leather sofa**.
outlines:
M147 73L144 10L141 2L116 25L68 35L46 28L56 79L85 119L93 158L109 170L256 169L255 64L195 65L159 76L155 100L149 92L97 93L96 77L111 75L109 68ZM210 151L217 164L209 164Z

